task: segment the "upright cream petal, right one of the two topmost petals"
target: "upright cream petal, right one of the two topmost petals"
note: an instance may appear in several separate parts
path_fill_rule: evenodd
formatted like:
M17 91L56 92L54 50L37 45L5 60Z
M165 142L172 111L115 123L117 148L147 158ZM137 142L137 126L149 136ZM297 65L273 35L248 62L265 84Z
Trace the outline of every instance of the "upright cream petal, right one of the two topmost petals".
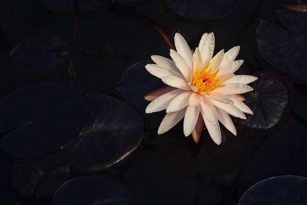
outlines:
M206 66L209 60L212 59L214 52L214 43L215 43L214 34L209 33L207 39L205 40L204 45L202 47L201 46L199 47L203 59L202 67Z

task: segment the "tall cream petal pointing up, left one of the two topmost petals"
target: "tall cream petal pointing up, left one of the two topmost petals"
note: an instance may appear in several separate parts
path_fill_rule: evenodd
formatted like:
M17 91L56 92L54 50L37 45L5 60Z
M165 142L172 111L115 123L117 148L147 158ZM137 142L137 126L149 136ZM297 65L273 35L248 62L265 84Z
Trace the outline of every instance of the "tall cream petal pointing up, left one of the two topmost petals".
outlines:
M192 52L189 45L180 33L175 33L174 41L177 53L186 61L189 68L192 69Z

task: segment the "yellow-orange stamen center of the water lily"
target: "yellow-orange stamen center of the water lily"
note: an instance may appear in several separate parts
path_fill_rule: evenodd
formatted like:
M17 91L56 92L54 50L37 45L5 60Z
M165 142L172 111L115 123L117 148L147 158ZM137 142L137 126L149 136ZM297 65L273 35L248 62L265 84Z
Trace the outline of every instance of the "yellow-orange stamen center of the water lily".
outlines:
M210 61L200 72L198 71L198 68L194 74L190 71L190 85L195 87L194 89L192 88L192 90L202 95L210 95L210 91L225 86L221 84L220 79L215 79L220 69L211 73L211 68L207 70L209 64Z

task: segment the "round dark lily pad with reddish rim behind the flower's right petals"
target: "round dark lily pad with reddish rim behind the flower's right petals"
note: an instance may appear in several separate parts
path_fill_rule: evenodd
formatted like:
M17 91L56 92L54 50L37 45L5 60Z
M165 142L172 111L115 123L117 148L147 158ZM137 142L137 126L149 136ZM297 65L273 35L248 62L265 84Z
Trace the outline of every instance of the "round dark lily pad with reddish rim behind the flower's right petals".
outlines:
M249 138L273 137L286 129L293 121L296 94L291 83L279 74L259 71L253 74L258 79L250 86L253 91L242 94L244 103L254 115L246 114L247 119L233 118L238 127L238 135ZM273 133L275 133L273 135Z

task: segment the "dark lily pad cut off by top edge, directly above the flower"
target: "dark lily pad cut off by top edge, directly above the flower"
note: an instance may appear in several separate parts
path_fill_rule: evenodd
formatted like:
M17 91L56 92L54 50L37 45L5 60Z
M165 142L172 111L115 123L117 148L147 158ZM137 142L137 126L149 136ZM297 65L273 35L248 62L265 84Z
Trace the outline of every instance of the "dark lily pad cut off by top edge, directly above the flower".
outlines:
M234 11L237 0L167 0L167 6L181 17L193 20L213 20Z

